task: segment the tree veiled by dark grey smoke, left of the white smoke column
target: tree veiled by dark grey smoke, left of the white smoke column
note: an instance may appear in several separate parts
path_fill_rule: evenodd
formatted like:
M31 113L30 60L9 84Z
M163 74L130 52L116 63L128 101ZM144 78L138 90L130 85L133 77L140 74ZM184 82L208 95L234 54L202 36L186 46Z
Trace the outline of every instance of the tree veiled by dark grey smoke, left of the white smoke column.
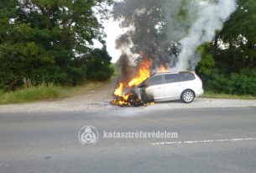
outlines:
M153 59L157 66L172 64L179 52L178 42L192 21L191 13L188 14L186 9L189 2L124 0L115 4L114 17L122 21L123 28L132 28L126 35L133 43L133 53ZM127 39L122 38L118 43L125 44Z

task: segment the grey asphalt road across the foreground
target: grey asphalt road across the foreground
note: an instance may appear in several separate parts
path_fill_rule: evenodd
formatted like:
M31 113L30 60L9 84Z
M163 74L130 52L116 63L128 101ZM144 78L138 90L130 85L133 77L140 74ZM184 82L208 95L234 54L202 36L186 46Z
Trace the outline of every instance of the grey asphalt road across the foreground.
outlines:
M123 111L0 113L0 173L256 172L256 107ZM97 144L81 145L84 125L97 128ZM103 130L179 137L106 139Z

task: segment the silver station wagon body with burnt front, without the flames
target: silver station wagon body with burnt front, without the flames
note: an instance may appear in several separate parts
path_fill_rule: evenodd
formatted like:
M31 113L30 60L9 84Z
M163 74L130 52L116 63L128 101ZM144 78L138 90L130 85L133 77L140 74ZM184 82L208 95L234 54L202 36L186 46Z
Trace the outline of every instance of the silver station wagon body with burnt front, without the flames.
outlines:
M177 99L191 103L203 92L201 79L191 71L154 74L132 89L142 103Z

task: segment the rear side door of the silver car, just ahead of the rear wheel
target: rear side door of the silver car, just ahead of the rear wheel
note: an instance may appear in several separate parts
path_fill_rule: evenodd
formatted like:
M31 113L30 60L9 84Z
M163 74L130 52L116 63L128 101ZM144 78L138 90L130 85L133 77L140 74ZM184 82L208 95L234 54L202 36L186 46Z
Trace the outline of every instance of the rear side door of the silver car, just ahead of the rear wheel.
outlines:
M165 74L165 97L166 99L180 99L179 74Z

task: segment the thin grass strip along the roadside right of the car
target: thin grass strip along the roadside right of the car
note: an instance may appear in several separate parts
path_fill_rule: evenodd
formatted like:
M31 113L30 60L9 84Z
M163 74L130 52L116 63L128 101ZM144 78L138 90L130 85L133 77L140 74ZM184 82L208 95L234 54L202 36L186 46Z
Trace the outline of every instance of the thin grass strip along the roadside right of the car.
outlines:
M256 99L253 95L232 95L232 94L220 94L214 93L212 91L206 91L202 98L212 98L212 99Z

